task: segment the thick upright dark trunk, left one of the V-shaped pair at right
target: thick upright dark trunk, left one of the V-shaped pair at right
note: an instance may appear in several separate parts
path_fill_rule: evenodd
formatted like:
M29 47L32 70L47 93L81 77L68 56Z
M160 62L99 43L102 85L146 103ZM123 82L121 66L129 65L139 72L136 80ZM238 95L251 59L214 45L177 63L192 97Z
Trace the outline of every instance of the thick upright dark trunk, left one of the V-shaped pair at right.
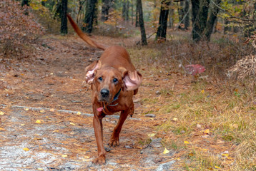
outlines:
M192 0L193 41L198 42L202 39L208 16L210 0Z

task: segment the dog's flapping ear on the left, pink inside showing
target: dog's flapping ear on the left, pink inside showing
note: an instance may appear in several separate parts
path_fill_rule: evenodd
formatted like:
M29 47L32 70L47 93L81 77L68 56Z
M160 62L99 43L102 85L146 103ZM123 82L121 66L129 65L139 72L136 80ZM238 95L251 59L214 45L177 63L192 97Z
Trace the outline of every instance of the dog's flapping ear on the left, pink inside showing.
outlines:
M102 63L100 61L94 61L91 65L85 68L85 81L89 84L92 84L95 77L95 71L102 67Z

